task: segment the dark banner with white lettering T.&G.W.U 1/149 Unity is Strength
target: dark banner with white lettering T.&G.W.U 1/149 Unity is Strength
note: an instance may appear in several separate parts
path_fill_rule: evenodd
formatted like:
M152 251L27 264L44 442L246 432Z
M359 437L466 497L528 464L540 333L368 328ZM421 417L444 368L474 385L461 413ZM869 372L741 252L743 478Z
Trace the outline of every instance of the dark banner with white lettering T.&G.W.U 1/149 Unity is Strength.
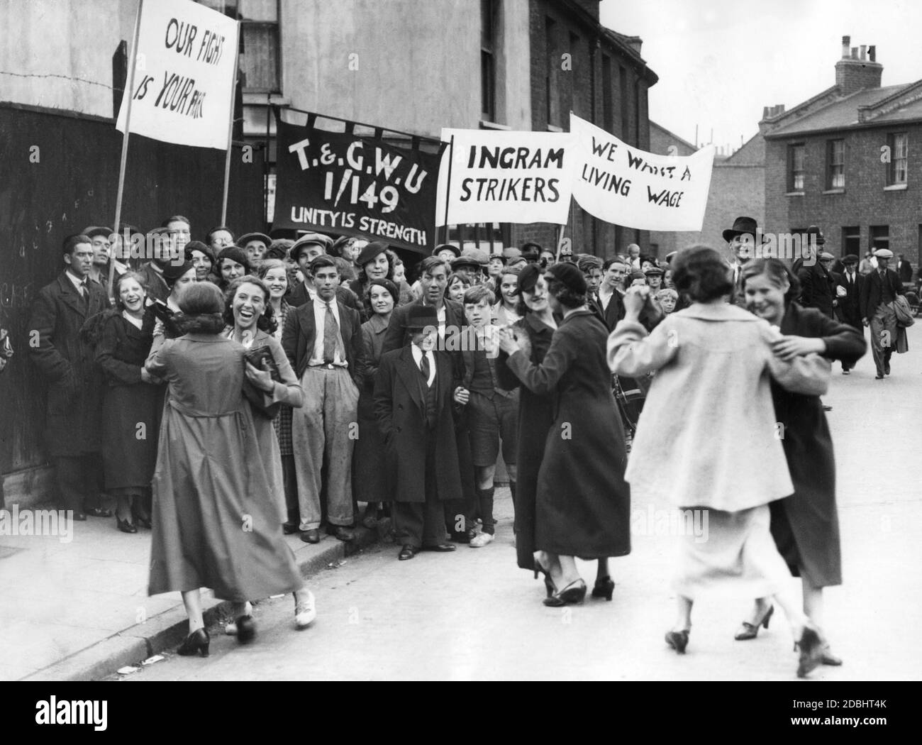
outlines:
M429 254L441 153L396 147L352 128L330 132L310 120L278 119L273 229L357 235Z

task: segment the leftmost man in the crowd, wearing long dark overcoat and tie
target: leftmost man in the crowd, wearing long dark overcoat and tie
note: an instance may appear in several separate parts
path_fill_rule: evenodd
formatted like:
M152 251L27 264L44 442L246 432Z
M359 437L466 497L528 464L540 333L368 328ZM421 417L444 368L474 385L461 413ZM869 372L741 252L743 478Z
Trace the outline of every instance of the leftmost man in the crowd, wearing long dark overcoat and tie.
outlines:
M64 509L73 510L75 520L86 520L87 514L111 517L100 504L102 381L93 349L80 337L84 322L109 301L101 285L89 280L93 246L88 236L65 238L64 262L65 271L39 290L29 325L38 334L38 345L29 345L31 360L49 383L47 455Z

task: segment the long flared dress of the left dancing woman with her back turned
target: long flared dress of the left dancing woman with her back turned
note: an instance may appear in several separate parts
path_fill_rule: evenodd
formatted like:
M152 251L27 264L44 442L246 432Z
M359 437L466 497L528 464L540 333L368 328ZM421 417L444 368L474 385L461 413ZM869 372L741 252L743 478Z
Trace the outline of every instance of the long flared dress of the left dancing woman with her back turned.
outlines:
M169 384L153 478L150 595L210 587L244 602L304 585L242 395L243 351L231 339L189 333L148 359L148 372Z

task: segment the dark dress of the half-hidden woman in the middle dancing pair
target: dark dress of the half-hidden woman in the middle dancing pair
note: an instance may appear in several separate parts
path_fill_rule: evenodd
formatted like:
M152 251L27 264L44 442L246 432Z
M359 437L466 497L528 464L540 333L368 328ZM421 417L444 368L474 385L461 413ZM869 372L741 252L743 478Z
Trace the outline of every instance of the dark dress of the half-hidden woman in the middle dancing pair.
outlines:
M533 365L544 361L554 329L534 313L526 313L513 325L519 347ZM514 497L515 555L518 565L529 572L535 568L535 511L538 500L538 470L544 457L550 425L554 421L553 396L532 393L507 366L509 356L500 352L496 358L496 377L502 388L521 387L518 409L518 432L515 455L516 490Z

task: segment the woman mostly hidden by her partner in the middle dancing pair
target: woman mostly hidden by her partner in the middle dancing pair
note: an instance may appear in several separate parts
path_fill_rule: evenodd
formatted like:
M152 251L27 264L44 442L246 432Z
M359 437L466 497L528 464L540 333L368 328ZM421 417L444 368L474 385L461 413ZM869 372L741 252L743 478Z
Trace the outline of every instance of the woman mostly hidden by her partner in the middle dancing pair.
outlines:
M548 304L548 283L541 277L538 266L528 265L518 277L519 302L516 307L521 320L513 325L513 335L528 361L540 365L550 347L550 337L557 321ZM513 495L515 522L515 554L518 565L529 572L543 569L535 560L535 502L538 498L538 469L544 457L544 443L554 421L550 396L532 393L507 366L509 359L502 350L496 359L496 377L500 387L514 390L521 386L518 413L518 452L515 461L516 488ZM549 585L550 587L550 585ZM552 590L551 590L552 591Z

